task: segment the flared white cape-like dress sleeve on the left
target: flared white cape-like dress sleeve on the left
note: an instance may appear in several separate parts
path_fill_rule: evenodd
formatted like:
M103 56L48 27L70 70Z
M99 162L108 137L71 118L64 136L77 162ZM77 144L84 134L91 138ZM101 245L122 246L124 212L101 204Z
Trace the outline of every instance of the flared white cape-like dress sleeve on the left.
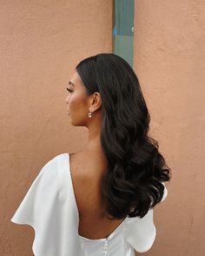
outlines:
M35 256L81 255L67 159L58 155L43 166L10 219L34 228Z

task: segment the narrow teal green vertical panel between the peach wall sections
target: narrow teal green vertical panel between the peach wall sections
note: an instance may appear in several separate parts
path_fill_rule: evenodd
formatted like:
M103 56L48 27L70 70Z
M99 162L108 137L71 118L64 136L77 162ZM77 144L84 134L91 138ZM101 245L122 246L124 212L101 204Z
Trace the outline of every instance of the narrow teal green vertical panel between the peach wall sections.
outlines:
M134 0L115 1L114 53L133 66Z

